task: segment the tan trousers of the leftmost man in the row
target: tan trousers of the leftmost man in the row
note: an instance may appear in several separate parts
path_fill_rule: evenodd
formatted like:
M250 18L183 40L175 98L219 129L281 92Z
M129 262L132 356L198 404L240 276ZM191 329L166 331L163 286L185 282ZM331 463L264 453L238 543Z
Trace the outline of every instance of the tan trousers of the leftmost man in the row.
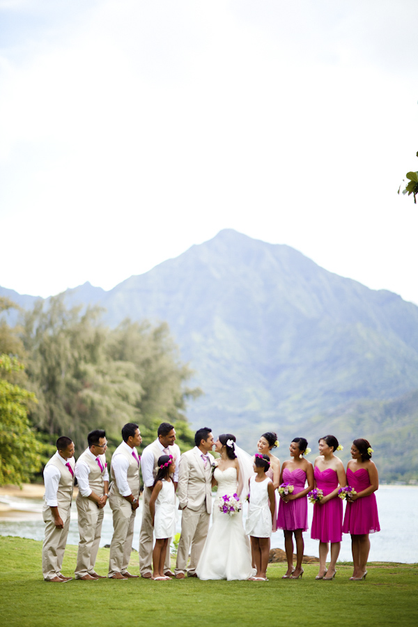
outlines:
M58 529L54 523L54 516L50 508L42 512L45 521L45 539L42 544L42 575L45 581L54 579L61 574L65 545L67 544L68 529L70 528L71 504L67 509L59 507L58 512L64 523L63 529Z

